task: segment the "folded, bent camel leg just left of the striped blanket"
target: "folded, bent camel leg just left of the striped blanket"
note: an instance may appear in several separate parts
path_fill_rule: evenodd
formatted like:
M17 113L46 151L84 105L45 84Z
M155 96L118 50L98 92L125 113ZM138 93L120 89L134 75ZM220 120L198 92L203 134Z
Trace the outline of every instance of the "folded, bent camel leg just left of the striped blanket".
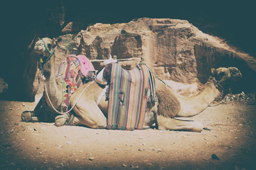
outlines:
M107 119L94 101L87 101L86 104L79 101L74 111L79 117L74 118L72 125L86 125L97 129L107 127Z

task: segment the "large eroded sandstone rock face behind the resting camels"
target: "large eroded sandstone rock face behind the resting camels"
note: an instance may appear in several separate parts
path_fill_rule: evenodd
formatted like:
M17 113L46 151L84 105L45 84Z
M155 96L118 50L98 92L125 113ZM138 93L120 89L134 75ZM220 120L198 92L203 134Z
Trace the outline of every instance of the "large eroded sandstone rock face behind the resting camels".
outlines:
M72 30L72 24L67 29ZM71 53L83 54L99 69L111 54L125 69L132 69L143 57L161 78L181 83L200 85L211 76L211 68L229 66L241 70L246 82L256 78L253 57L204 34L186 20L139 18L123 24L94 24L57 39L56 64ZM253 77L246 77L248 74ZM255 82L247 84L253 88Z

